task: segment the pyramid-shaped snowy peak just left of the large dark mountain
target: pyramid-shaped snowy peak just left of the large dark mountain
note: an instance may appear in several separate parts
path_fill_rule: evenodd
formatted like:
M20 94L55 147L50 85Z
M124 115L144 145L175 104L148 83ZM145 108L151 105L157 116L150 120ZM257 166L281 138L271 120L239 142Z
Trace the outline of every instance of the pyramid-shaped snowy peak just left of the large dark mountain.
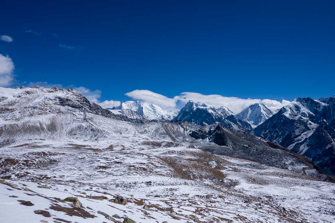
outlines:
M246 121L251 124L253 128L262 124L273 115L273 112L268 109L263 103L252 104L243 109L236 115L238 119Z

